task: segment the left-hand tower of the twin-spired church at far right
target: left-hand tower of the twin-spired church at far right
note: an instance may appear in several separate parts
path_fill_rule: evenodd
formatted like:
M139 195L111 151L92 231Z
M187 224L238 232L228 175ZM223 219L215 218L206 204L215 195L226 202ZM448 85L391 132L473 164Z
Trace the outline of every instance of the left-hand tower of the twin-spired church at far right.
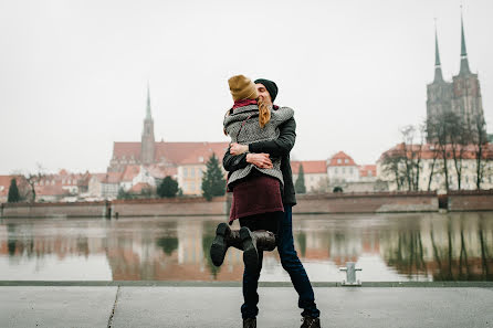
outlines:
M437 27L434 28L434 78L433 82L427 85L427 118L428 123L433 117L439 116L441 113L451 110L452 99L452 83L443 80L442 67L440 63L440 51L438 46ZM428 131L431 131L431 127L428 126ZM429 133L429 135L431 135ZM428 137L428 142L431 142L431 138Z

